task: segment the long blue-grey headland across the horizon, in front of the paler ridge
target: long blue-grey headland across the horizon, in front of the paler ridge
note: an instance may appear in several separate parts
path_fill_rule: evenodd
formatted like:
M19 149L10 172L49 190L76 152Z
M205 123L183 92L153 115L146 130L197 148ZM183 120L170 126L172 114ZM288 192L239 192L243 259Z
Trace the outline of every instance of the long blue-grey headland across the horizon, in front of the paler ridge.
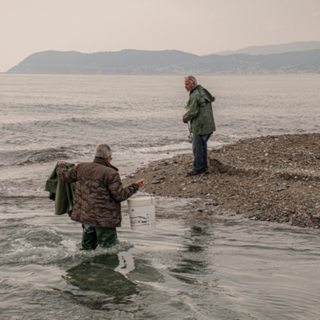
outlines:
M320 73L320 49L268 55L198 56L177 50L80 53L44 51L8 73L46 74L267 74Z

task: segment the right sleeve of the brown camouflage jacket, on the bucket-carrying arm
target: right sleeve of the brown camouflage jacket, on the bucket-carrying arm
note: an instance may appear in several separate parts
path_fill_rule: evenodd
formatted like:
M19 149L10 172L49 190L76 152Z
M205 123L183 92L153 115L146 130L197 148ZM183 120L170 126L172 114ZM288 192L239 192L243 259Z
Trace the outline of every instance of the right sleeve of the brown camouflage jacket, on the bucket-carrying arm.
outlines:
M117 172L107 177L106 185L112 198L118 202L127 200L139 190L139 186L136 183L124 188Z

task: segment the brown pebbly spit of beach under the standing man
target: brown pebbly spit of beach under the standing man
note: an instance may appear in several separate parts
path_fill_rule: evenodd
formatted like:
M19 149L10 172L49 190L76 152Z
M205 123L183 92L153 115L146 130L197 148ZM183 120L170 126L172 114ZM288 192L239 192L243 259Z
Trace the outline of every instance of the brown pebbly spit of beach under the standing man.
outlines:
M320 134L263 136L208 150L210 174L186 177L193 155L151 162L126 177L140 191L203 199L191 210L231 212L250 220L320 228Z

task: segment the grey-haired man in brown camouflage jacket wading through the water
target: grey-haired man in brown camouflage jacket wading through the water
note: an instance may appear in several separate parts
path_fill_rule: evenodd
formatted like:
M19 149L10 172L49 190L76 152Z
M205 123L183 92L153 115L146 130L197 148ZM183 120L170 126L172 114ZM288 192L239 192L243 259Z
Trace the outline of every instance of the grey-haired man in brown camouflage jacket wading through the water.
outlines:
M100 144L93 162L67 169L59 161L56 173L64 182L77 182L71 219L82 223L82 248L94 250L98 244L110 247L117 241L116 227L121 226L121 201L127 200L144 179L124 188L118 169L111 162L111 149Z

